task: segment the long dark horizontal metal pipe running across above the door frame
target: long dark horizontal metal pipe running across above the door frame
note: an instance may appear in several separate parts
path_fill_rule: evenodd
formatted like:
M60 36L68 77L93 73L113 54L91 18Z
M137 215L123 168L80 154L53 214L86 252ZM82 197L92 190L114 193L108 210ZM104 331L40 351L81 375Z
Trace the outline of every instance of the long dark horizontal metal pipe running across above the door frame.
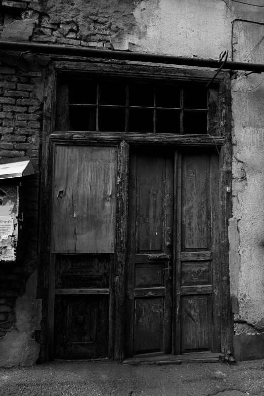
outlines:
M103 59L119 59L139 62L163 63L170 65L199 66L216 68L221 65L216 60L187 58L182 56L155 55L145 54L142 52L129 51L110 51L110 50L94 50L92 48L68 47L61 45L47 44L31 44L31 43L15 43L0 41L0 50L6 51L31 51L41 54L71 55L83 56L86 58L103 58ZM63 60L63 59L62 59ZM245 63L245 62L226 62L225 69L229 70L247 70L254 72L263 72L264 64L261 63Z

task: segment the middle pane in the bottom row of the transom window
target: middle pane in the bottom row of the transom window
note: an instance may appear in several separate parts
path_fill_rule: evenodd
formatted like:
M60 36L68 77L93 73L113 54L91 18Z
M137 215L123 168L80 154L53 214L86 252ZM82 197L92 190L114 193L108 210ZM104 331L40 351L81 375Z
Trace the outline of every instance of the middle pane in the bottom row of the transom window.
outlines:
M153 110L131 109L128 110L128 132L152 133Z

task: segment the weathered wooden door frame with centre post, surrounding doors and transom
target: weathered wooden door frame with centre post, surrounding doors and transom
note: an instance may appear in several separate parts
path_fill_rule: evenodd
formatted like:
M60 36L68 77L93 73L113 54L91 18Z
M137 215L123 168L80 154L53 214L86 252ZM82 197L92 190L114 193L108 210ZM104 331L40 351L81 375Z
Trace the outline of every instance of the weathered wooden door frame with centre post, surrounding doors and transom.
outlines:
M63 59L63 57L62 57ZM221 72L215 78L219 85L221 100L216 100L211 108L215 111L217 134L211 135L172 135L172 134L123 134L123 133L84 133L56 132L56 90L58 75L66 77L75 74L126 76L138 79L152 78L166 81L204 82L211 80L214 72L208 70L177 69L171 67L128 65L125 62L92 60L91 63L78 61L52 61L47 68L45 82L45 104L43 108L42 150L40 157L40 215L38 244L37 298L42 299L41 330L36 331L36 341L41 345L39 363L53 359L53 306L54 274L51 265L51 219L54 146L60 144L111 145L118 146L116 205L116 250L111 276L109 316L109 350L117 362L124 360L124 312L125 312L125 266L127 239L127 186L129 145L142 146L185 146L215 147L219 151L220 185L220 309L221 309L221 351L233 351L233 313L229 281L228 220L232 216L232 142L231 142L231 97L230 75ZM214 109L214 110L213 110ZM220 149L220 150L219 150ZM229 187L229 188L227 188ZM230 190L229 190L230 191Z

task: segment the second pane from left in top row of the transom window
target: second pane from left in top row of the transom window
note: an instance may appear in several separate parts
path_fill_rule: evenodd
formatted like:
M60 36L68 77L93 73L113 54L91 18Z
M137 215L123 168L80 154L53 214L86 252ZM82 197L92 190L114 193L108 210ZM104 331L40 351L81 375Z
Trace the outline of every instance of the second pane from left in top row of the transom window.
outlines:
M125 85L116 82L100 83L99 104L125 106Z

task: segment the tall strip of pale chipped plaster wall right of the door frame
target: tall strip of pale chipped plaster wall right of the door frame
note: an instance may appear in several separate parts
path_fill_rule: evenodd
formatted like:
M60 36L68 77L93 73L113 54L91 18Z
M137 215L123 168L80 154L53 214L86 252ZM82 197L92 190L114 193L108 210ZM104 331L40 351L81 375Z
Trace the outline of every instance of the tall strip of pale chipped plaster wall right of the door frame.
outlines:
M263 40L261 40L264 36L263 26L248 21L234 22L234 61L264 63ZM233 165L233 214L237 220L239 232L237 244L240 247L240 269L236 287L239 317L256 330L262 331L264 329L262 264L264 260L264 113L262 108L264 87L260 84L254 89L261 83L263 76L244 74L244 72L238 73L236 80L232 82L232 90L252 90L232 94L233 153L239 160L238 168ZM243 164L243 172L246 176L244 180L243 174L239 175L240 164ZM232 260L235 260L235 255L230 261L231 272L234 269Z

